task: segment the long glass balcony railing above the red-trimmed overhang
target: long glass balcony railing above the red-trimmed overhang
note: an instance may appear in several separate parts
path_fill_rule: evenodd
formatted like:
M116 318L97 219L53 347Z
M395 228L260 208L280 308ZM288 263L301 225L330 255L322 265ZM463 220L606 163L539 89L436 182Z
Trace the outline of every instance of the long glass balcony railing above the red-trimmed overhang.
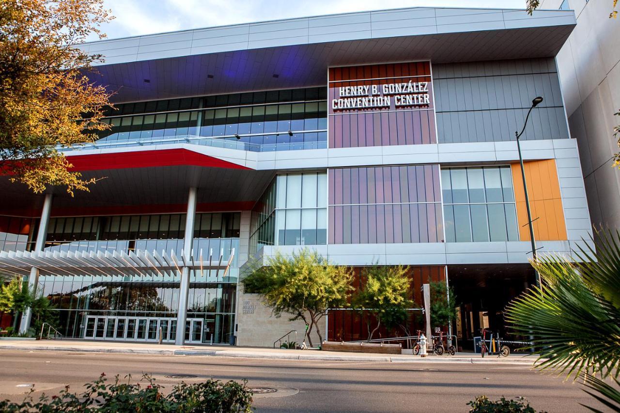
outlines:
M312 133L312 132L325 132L325 130L313 130L313 131L299 131L291 132L295 134ZM286 132L280 133L285 135ZM251 136L265 136L275 135L275 133L248 133L244 135L238 135L240 138ZM234 138L234 139L226 139ZM174 143L190 143L201 146L211 146L213 148L227 148L237 149L241 151L249 152L275 152L275 151L294 151L299 149L325 149L327 148L327 141L312 141L312 142L296 142L296 143L249 143L242 142L236 139L235 135L218 136L217 138L197 136L197 135L177 135L164 138L139 138L136 140L118 140L118 141L105 141L99 140L94 142L76 143L71 146L56 146L59 152L71 152L71 151L87 151L92 149L107 149L107 148L127 148L130 146L149 146L157 144L174 144Z

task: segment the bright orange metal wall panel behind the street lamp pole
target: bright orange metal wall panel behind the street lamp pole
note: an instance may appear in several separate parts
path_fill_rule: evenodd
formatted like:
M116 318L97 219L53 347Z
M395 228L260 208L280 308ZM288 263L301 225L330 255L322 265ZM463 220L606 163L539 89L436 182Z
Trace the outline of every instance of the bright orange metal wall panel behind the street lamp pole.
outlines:
M534 221L534 236L538 241L565 240L566 224L555 159L525 162L524 167L532 219L538 218ZM529 241L528 213L525 207L521 167L519 164L512 164L511 170L515 185L519 238L521 241Z

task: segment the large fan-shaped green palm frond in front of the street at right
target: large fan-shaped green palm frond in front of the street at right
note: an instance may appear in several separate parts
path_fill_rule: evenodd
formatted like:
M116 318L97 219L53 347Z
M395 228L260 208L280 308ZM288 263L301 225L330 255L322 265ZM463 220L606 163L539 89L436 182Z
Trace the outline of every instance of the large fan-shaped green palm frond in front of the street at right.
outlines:
M577 378L588 368L618 376L620 308L590 287L565 258L543 257L534 286L507 307L513 329L533 335L539 367Z

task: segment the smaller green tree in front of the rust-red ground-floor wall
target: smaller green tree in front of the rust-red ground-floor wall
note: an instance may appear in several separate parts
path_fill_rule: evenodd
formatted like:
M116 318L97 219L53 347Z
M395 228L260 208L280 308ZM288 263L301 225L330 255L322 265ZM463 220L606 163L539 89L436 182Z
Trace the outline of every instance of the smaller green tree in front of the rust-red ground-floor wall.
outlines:
M386 327L404 324L407 320L407 308L411 300L410 280L407 277L409 267L402 265L373 265L363 270L364 287L353 296L353 306L372 314L366 317L368 341L378 331L381 323Z

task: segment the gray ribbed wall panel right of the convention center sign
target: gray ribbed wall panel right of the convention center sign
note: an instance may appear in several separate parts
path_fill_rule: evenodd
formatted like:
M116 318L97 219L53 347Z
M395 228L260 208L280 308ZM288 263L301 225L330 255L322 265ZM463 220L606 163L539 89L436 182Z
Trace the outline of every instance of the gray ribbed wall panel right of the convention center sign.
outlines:
M531 100L524 140L568 138L553 58L433 65L439 143L510 141Z

